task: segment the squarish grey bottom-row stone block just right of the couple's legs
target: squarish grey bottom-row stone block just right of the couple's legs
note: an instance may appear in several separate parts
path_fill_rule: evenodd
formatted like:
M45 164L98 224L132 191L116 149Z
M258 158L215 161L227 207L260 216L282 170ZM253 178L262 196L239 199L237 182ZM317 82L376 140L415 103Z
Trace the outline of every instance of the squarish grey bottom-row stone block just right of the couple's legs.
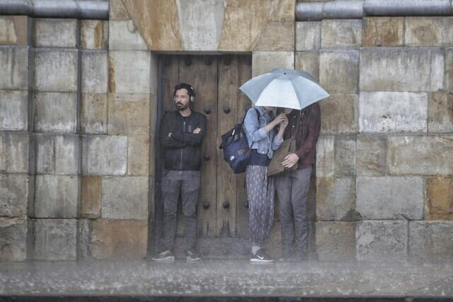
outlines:
M355 260L355 222L316 222L316 252L321 261Z

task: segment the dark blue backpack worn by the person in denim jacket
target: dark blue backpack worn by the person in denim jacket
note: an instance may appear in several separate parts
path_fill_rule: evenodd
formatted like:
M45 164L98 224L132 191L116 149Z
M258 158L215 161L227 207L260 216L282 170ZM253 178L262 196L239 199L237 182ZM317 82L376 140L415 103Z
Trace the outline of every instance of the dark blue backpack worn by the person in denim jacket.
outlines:
M254 108L260 119L260 112ZM247 115L248 110L246 111ZM244 115L241 124L235 124L233 129L222 135L222 144L219 149L223 150L224 161L226 161L234 174L243 173L246 171L248 160L251 156L251 149L248 146L246 132L243 130L243 121L246 119Z

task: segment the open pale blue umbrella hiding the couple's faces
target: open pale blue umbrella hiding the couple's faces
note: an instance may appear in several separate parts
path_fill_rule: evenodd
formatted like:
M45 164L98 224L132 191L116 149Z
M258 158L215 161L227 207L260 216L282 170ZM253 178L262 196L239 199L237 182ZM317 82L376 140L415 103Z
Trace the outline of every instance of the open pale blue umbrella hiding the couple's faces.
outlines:
M239 87L256 106L301 110L328 98L328 93L306 71L273 69Z

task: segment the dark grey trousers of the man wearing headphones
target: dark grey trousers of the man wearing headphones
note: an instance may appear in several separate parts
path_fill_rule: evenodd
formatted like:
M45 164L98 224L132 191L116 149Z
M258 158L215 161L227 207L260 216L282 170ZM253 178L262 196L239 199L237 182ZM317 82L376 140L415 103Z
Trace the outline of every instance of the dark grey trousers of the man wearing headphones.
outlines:
M162 198L164 199L164 247L166 250L173 250L175 243L179 194L183 205L185 241L189 249L195 248L198 192L200 192L200 171L164 171Z

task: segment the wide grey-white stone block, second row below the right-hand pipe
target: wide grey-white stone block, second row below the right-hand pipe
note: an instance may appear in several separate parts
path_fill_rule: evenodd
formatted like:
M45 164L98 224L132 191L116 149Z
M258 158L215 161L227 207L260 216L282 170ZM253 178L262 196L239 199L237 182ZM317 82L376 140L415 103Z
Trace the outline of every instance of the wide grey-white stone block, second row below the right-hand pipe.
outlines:
M438 91L444 87L443 81L444 56L440 49L360 50L361 91Z

